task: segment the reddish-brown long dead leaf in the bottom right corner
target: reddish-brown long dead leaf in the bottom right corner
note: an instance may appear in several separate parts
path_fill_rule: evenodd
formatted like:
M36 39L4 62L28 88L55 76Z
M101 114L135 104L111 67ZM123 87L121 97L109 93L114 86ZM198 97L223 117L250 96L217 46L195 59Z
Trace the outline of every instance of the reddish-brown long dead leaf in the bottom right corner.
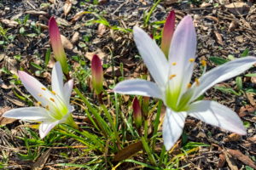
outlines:
M239 150L227 150L227 152L229 152L230 155L236 157L236 159L238 159L239 161L243 162L244 164L246 164L249 167L253 167L254 169L256 169L256 164L255 162L249 157L249 156L245 156L241 153L241 151Z

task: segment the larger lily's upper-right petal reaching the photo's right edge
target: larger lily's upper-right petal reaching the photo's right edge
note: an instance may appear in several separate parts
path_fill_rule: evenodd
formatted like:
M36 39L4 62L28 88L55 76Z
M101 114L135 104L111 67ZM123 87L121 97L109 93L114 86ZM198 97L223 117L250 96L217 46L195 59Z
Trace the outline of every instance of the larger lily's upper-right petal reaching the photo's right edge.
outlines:
M254 63L256 63L256 57L245 57L232 60L208 71L200 78L199 87L195 87L195 85L193 85L193 88L195 88L195 94L191 100L197 99L201 94L204 94L208 88L211 88L218 82L224 82L231 77L240 75L243 71L248 70Z

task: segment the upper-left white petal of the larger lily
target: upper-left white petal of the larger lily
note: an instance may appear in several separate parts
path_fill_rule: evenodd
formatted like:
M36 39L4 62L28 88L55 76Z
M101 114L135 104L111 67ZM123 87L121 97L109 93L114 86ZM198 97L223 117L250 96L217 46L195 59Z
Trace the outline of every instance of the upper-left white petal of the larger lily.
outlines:
M134 26L133 34L137 49L142 55L143 61L147 65L154 81L160 86L166 86L169 67L165 54L141 28Z

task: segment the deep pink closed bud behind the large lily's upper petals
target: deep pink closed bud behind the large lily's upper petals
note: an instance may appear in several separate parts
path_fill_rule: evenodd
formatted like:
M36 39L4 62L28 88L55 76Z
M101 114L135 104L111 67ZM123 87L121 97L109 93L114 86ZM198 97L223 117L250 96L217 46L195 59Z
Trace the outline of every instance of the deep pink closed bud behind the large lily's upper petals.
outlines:
M163 28L162 41L161 41L161 49L166 55L166 58L169 54L169 48L172 41L172 34L174 32L175 27L175 12L172 10L170 14L166 18L166 24Z

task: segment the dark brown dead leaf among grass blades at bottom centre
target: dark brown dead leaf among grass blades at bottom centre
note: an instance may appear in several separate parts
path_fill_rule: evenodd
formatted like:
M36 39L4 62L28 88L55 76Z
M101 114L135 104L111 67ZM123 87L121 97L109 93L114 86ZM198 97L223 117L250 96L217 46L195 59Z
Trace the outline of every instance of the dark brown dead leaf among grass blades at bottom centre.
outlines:
M123 150L119 150L119 152L115 156L113 156L113 161L125 160L133 156L140 150L143 150L143 143L141 141L138 141L137 143L134 144L130 144L126 146Z

